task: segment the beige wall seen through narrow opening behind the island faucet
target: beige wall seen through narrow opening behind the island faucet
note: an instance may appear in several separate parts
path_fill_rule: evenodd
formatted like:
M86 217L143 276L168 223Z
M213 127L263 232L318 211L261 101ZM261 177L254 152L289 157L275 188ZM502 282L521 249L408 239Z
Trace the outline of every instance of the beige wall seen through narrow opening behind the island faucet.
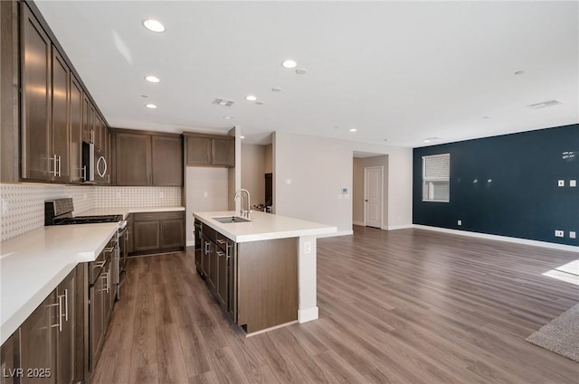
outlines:
M242 144L242 188L251 193L252 205L265 203L265 146Z

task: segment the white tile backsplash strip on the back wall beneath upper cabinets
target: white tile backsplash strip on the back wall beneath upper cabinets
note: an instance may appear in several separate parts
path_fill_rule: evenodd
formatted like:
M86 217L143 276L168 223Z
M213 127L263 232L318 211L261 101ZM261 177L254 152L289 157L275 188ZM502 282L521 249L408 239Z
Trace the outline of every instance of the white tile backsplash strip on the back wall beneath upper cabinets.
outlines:
M180 187L97 187L96 207L173 207L182 205Z

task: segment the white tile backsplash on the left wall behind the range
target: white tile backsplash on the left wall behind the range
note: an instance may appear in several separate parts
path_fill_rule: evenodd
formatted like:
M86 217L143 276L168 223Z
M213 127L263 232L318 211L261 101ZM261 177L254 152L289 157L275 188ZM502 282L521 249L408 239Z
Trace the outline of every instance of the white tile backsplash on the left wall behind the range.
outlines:
M71 197L74 210L95 206L94 186L0 183L0 242L44 226L44 201Z

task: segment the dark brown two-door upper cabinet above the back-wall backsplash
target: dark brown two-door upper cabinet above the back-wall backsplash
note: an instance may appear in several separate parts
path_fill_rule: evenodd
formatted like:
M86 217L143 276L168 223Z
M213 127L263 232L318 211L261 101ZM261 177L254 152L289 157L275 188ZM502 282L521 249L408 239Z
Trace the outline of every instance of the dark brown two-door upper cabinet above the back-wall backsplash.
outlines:
M115 130L115 185L182 186L180 135Z

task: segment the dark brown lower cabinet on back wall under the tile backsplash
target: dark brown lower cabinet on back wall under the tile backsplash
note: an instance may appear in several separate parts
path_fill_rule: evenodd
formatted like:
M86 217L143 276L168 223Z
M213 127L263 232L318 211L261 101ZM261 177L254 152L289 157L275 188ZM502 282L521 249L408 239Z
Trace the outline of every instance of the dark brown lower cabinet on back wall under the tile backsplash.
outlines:
M139 212L132 217L131 255L185 249L185 212Z

